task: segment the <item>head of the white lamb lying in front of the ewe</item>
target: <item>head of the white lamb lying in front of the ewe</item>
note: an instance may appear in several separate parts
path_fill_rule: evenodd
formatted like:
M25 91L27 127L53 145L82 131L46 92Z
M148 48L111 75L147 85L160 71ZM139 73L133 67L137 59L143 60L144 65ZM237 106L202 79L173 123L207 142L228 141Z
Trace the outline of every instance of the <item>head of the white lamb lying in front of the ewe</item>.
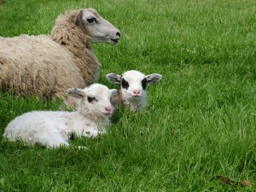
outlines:
M103 84L91 84L84 90L69 89L67 92L69 96L80 99L79 112L84 115L100 119L108 118L113 113L110 99L116 93L115 89L109 90Z

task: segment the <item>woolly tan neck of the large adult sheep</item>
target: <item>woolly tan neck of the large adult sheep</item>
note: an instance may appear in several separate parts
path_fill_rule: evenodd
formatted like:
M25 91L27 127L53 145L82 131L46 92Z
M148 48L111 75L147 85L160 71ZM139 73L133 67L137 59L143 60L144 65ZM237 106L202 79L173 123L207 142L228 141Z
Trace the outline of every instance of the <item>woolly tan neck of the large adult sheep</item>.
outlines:
M79 67L84 82L90 84L98 78L101 64L91 49L90 36L75 24L77 15L78 12L74 11L70 15L59 17L51 32L51 38L72 53L74 63Z

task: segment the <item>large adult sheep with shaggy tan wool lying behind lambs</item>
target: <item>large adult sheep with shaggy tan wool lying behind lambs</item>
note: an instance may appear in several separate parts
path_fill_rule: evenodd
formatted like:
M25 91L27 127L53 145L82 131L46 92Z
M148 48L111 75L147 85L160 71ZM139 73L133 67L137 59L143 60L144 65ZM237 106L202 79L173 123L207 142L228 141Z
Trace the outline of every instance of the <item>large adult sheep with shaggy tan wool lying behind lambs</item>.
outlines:
M117 44L120 32L95 9L67 12L51 35L0 38L0 84L17 95L67 98L69 87L96 81L101 64L91 43Z

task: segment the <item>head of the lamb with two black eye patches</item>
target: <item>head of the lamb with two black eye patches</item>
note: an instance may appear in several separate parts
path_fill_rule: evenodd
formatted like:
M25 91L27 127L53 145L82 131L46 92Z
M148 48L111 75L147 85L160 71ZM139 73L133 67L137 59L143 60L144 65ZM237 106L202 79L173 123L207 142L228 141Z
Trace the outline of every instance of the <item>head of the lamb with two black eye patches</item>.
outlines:
M126 102L130 102L132 104L132 102L146 100L147 84L154 84L158 82L162 76L157 73L144 75L138 71L131 70L123 73L122 75L109 73L106 78L113 84L119 84L122 98Z

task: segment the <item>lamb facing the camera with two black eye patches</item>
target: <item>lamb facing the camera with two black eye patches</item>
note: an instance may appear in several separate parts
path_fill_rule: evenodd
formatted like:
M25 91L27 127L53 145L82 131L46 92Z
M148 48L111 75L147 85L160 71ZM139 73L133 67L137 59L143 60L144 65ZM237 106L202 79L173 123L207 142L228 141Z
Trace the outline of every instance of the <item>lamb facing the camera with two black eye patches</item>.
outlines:
M158 82L162 76L158 73L145 76L141 72L131 70L122 75L109 73L106 78L109 82L120 85L120 89L112 100L116 108L124 104L132 110L141 110L147 106L147 84Z

